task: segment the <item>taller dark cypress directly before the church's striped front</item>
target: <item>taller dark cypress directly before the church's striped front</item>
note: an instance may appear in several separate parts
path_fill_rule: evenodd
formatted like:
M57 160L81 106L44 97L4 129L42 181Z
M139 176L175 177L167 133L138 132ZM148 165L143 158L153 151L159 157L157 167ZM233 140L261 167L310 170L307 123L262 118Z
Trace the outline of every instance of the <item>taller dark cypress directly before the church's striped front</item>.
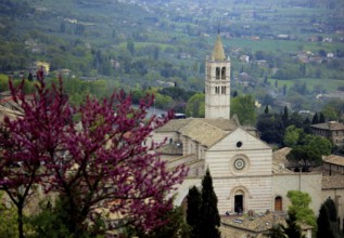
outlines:
M209 169L202 181L202 203L200 214L200 237L201 238L219 238L220 216L217 210L217 197L213 187L213 178Z

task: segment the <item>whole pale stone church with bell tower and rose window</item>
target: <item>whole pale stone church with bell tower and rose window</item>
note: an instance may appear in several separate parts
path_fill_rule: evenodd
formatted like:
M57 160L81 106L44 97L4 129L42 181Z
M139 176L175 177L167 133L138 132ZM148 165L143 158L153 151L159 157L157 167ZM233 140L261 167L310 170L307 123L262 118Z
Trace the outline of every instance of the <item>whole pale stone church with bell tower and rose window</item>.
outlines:
M201 188L208 168L220 215L250 210L286 212L289 190L307 191L317 214L326 197L322 174L285 169L285 155L284 160L279 160L281 153L272 153L254 128L243 127L235 116L230 116L230 60L219 36L205 67L205 118L170 120L151 136L155 142L167 138L158 153L168 167L190 168L188 177L178 186L175 204L186 201L190 187Z

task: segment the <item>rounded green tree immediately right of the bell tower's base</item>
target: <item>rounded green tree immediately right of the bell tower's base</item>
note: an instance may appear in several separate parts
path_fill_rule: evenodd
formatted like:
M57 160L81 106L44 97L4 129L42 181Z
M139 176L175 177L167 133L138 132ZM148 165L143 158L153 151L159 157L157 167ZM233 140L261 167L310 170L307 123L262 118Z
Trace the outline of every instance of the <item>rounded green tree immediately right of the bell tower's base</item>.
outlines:
M230 114L237 115L242 124L255 124L255 101L252 95L233 97L230 103Z

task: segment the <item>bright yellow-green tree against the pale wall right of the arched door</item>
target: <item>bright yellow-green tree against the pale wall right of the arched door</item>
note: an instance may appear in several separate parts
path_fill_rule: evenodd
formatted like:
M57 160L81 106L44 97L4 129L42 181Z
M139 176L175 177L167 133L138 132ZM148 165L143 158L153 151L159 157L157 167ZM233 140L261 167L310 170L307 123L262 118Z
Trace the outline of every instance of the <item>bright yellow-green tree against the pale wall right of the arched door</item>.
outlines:
M301 190L289 190L286 197L291 201L291 206L288 209L288 214L295 215L296 222L301 224L307 224L317 230L317 222L314 211L309 208L311 198L309 194Z

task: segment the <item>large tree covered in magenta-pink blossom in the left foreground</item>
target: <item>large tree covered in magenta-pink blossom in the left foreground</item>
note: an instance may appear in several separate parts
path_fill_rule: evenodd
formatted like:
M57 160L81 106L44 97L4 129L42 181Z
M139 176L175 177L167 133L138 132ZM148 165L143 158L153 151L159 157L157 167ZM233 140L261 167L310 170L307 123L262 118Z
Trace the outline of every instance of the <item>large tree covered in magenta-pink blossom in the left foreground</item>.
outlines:
M0 133L0 189L17 208L21 237L23 208L35 185L65 198L68 229L76 236L87 229L95 210L116 213L146 230L165 222L162 214L171 209L167 195L188 170L167 169L154 153L161 144L144 145L152 130L167 120L145 119L152 97L139 108L124 92L72 107L62 80L49 89L38 77L33 100L24 95L23 85L11 84L11 92L24 115L5 118Z

